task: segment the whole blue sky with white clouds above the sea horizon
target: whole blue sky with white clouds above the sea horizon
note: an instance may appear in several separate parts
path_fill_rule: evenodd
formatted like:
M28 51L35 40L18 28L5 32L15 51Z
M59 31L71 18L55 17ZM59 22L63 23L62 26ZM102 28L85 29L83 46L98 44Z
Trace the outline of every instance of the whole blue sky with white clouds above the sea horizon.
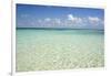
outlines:
M17 4L17 28L104 29L104 10Z

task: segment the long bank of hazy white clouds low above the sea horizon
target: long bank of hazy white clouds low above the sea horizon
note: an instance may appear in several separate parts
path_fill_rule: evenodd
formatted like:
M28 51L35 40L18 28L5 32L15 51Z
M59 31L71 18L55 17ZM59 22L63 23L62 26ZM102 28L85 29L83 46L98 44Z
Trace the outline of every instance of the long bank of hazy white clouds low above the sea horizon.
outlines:
M29 15L22 15L23 18ZM65 19L61 18L43 18L43 19L27 19L21 20L19 25L28 24L28 26L38 28L99 28L103 25L103 19L98 17L75 17L67 14Z

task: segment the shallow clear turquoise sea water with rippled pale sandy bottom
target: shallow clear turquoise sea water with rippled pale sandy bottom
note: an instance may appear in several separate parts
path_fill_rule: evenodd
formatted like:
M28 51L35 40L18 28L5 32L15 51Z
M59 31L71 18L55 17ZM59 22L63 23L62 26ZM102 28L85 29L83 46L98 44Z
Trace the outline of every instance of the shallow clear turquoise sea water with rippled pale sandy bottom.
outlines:
M100 30L17 30L17 72L104 66Z

